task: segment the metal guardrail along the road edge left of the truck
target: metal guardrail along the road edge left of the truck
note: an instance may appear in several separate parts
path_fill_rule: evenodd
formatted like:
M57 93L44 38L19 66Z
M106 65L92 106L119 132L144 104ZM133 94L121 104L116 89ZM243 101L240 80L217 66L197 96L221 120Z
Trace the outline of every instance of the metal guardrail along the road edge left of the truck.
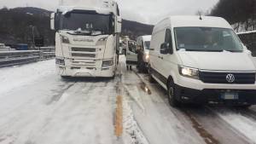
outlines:
M0 67L52 59L55 57L54 51L54 47L44 47L41 50L0 50Z

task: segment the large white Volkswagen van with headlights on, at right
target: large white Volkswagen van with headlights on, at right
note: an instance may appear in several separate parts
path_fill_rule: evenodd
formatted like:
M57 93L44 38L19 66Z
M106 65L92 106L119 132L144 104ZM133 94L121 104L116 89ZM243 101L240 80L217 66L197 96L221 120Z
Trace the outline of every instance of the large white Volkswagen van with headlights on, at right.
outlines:
M219 17L172 16L154 26L149 80L180 103L256 103L256 66L230 24Z

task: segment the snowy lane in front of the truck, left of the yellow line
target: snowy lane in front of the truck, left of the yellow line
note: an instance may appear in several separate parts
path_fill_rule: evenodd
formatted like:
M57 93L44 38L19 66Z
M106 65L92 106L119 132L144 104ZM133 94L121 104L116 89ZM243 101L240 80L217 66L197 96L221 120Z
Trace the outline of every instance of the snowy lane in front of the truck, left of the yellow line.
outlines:
M115 81L63 81L54 60L1 72L6 83L19 82L1 89L1 144L114 143Z

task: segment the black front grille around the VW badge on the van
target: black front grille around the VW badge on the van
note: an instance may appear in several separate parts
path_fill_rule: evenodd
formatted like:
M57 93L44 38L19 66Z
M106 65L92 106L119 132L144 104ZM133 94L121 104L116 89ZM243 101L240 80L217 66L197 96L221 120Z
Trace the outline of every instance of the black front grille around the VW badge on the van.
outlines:
M229 83L227 75L233 74L235 81ZM253 72L199 72L199 78L207 84L254 84L255 73Z

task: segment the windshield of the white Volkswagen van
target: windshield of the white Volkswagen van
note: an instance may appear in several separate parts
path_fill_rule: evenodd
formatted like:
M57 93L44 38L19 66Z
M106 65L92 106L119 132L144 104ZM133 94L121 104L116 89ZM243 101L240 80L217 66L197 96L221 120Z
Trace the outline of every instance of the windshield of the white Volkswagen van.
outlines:
M174 28L177 49L188 51L242 52L235 32L226 28L177 27Z

